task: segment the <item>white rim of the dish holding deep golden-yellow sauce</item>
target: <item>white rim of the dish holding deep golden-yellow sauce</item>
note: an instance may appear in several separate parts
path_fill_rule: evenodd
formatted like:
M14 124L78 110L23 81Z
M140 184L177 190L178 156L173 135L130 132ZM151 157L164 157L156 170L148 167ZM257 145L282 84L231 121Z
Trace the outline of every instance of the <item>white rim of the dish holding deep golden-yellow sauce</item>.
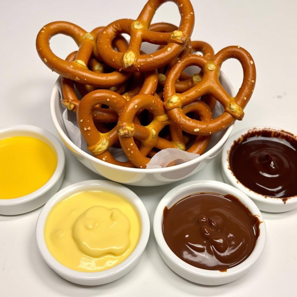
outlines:
M65 167L65 153L63 150L63 146L61 145L60 141L49 131L42 129L40 127L32 126L32 125L13 125L13 126L6 126L0 128L0 139L1 135L7 132L28 132L32 133L34 137L34 134L36 135L36 138L38 136L41 136L40 140L42 138L46 138L49 143L53 146L53 151L55 151L56 157L57 157L57 167L53 173L53 175L50 177L50 179L39 189L36 191L21 196L18 198L11 198L11 199L0 199L0 206L13 206L13 205L19 205L22 203L27 203L31 200L34 200L41 195L45 194L50 190L58 181L61 175L63 174L64 167ZM17 135L15 135L17 136ZM9 137L9 136L7 136Z

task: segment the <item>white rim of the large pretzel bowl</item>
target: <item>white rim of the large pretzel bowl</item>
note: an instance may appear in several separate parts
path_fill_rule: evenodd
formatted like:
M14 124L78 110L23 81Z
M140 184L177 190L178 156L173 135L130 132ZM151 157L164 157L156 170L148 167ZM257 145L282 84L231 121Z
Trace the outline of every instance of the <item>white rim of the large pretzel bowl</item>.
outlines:
M225 81L225 83L228 85L230 91L231 91L231 96L235 95L235 91L233 89L232 84L230 83L229 79L227 78L227 76L223 73L220 72L220 76L222 77L222 79ZM198 156L195 159L192 159L190 161L178 164L178 165L174 165L174 166L170 166L170 167L165 167L165 168L149 168L149 169L141 169L141 168L129 168L129 167L124 167L124 166L120 166L120 165L115 165L115 164L111 164L108 162L104 162L100 159L95 158L94 156L86 153L85 151L83 151L82 149L80 149L79 147L77 147L68 137L68 135L66 135L66 133L63 131L63 129L61 128L59 121L57 119L56 116L56 112L55 112L55 103L56 103L56 93L59 92L59 84L60 84L60 77L56 80L56 83L54 84L51 96L50 96L50 113L52 116L52 120L53 123L60 135L60 137L63 139L63 141L65 141L65 143L67 144L67 146L71 147L71 149L73 149L75 152L77 152L78 154L82 155L83 157L89 159L91 162L95 162L97 164L100 165L105 165L109 168L116 168L118 170L122 170L125 172L133 172L133 173L164 173L164 172L169 172L169 171L173 171L173 170L177 170L177 169L181 169L181 168L185 168L188 166L191 166L195 163L201 162L204 159L206 159L207 157L211 156L219 147L223 146L224 143L228 140L229 136L231 135L231 132L233 130L235 121L227 128L225 129L224 134L222 135L222 138L208 151L206 151L205 153L203 153L202 155ZM143 171L144 170L144 171Z

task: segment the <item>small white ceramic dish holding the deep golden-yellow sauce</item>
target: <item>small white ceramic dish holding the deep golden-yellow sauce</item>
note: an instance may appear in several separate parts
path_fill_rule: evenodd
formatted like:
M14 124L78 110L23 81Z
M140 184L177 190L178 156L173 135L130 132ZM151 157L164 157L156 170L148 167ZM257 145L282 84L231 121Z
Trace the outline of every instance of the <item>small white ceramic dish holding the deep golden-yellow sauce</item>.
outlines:
M0 128L0 139L13 136L31 136L48 144L56 153L57 168L48 182L40 189L19 198L0 199L0 214L23 214L48 201L60 188L64 179L65 154L59 140L50 132L35 126L15 125Z

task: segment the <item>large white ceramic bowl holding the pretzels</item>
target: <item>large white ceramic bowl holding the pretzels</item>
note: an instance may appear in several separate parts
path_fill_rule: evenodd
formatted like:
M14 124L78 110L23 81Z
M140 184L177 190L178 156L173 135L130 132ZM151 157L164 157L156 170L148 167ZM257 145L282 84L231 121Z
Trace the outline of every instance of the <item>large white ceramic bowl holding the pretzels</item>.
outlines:
M220 80L222 86L226 89L226 91L229 94L231 94L231 96L234 96L235 93L233 87L223 73L221 73L220 75ZM72 143L72 141L68 137L67 130L65 128L62 118L64 107L61 105L60 102L61 95L59 93L59 88L60 79L57 80L51 94L50 111L53 123L61 139L68 147L68 149L72 152L72 154L87 168L91 169L92 171L98 173L101 176L104 176L110 180L117 181L122 184L146 187L158 186L179 181L188 176L191 176L198 170L204 168L221 151L223 145L230 136L234 126L234 124L232 124L224 131L214 134L208 146L208 150L201 156L189 162L168 168L157 169L122 167L99 160L91 156L90 154L86 153L82 149L78 148L74 143ZM218 116L223 111L224 108L221 105L219 105L219 103L217 103L217 106L214 110L214 116Z

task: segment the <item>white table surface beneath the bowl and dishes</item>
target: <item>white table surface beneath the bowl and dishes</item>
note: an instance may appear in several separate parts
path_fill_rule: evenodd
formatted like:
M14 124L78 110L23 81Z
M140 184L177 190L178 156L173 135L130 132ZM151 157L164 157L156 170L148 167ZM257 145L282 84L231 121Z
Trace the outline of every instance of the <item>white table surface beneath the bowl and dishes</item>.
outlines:
M66 20L90 31L119 18L136 18L144 3L145 0L2 3L0 126L32 124L57 135L49 110L50 92L57 75L45 67L35 49L36 34L42 26ZM192 4L196 17L192 40L209 42L215 51L228 45L241 45L255 61L255 91L245 109L244 120L236 123L234 131L270 125L297 134L294 115L297 109L297 1L192 0ZM157 12L153 22L160 21L179 23L174 4L167 3ZM54 37L52 46L61 57L76 49L74 42L64 36ZM239 64L226 62L222 70L237 90L242 78ZM64 149L66 175L62 187L101 178ZM222 181L220 156L187 180L202 178ZM143 200L152 221L157 203L176 184L129 188ZM262 257L241 279L215 287L196 285L171 271L157 252L152 232L140 262L126 276L97 287L74 285L56 275L39 255L35 241L39 212L37 209L19 216L0 216L1 297L296 296L297 210L263 213L267 244Z

